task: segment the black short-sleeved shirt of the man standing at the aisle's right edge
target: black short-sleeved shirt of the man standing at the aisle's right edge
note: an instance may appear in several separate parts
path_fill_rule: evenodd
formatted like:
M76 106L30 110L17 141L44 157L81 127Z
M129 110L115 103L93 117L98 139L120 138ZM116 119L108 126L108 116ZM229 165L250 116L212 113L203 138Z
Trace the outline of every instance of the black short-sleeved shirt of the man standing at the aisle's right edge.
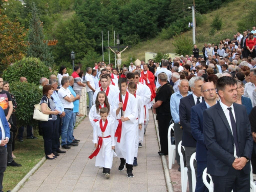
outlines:
M155 101L163 101L163 103L156 108L158 115L170 115L170 96L172 96L172 89L168 83L164 84L158 91Z

